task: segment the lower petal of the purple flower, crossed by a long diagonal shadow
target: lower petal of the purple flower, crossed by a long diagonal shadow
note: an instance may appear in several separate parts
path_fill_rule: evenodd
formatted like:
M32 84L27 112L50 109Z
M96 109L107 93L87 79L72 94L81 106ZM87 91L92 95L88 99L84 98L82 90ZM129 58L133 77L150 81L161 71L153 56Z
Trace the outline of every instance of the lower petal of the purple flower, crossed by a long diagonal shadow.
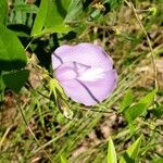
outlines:
M65 93L74 101L92 105L108 98L116 85L116 71L113 70L105 72L103 78L95 82L83 82L76 78L60 80L60 83Z

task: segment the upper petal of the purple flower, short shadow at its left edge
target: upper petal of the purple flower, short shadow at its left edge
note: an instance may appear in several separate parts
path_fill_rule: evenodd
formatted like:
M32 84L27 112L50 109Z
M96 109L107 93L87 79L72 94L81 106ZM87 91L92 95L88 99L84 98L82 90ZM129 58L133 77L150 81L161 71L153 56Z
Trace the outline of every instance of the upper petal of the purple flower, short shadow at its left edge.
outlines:
M112 59L100 48L92 43L76 46L62 46L52 54L52 66L58 67L65 62L77 62L85 65L99 66L105 71L112 70Z

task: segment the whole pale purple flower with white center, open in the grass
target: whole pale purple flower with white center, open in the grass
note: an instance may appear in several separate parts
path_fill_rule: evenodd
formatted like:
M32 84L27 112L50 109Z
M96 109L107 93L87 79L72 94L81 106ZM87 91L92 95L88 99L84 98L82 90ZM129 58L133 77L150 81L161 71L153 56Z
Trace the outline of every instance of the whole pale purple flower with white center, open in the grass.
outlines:
M92 43L59 47L52 53L52 67L65 93L85 105L106 99L117 80L111 57Z

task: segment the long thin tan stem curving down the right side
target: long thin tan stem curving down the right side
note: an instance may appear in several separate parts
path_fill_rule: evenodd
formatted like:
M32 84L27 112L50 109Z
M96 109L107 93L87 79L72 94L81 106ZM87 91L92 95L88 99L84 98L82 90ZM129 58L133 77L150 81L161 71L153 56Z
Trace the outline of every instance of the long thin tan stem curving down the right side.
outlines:
M156 70L156 65L155 65L155 59L154 59L154 54L153 54L153 48L152 48L152 43L151 43L151 40L147 34L147 30L145 29L142 23L141 23L141 20L139 18L137 12L136 12L136 9L134 7L134 4L130 2L128 2L127 0L125 0L126 4L133 10L134 14L135 14L135 17L136 20L138 21L143 34L146 35L146 38L147 38L147 41L148 41L148 45L149 45L149 49L150 49L150 54L151 54L151 60L152 60L152 66L153 66L153 72L154 72L154 88L155 90L158 91L159 90L159 84L158 84L158 70ZM156 101L156 96L154 97L154 101Z

